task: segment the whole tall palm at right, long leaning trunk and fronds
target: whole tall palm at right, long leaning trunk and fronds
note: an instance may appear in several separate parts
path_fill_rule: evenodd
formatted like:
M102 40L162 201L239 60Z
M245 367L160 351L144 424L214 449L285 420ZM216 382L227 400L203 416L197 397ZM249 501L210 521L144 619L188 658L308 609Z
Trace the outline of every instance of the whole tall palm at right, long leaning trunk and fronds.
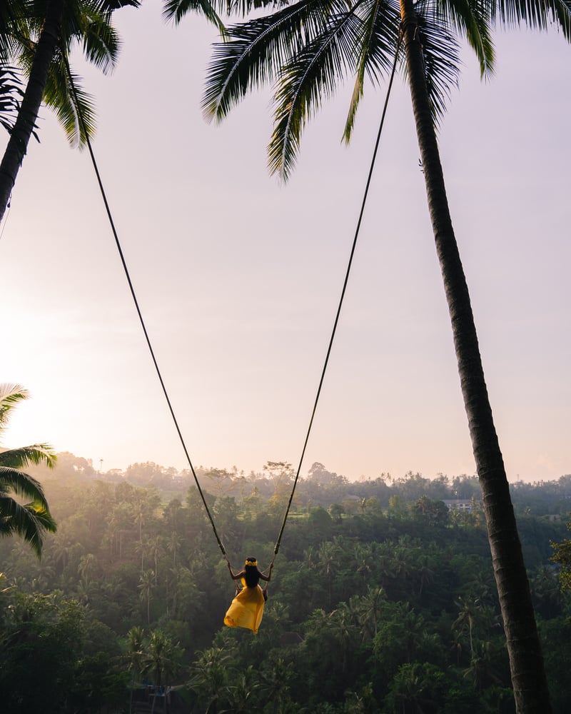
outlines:
M274 7L271 4L272 8ZM570 0L298 0L230 30L217 44L203 106L222 119L259 84L274 81L271 171L288 178L305 122L347 74L355 86L345 124L350 139L365 76L388 74L393 56L410 86L430 219L443 276L460 386L482 489L488 538L505 623L517 711L550 711L540 642L509 485L487 395L470 295L450 218L435 124L459 68L458 40L475 51L482 76L492 72L491 26L554 24L571 40ZM404 50L400 44L402 38ZM404 56L403 56L404 55Z

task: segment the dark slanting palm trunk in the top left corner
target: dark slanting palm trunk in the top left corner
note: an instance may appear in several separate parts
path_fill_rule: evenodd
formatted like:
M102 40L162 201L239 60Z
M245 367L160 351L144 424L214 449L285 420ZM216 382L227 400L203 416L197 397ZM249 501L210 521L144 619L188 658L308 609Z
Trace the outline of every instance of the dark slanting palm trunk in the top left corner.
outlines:
M36 54L32 62L26 91L0 164L0 221L6 212L12 188L16 183L16 176L18 176L18 171L22 161L24 161L30 136L34 130L36 119L38 119L41 100L46 89L49 67L54 59L59 38L64 6L65 0L51 0L49 4L44 27L41 30Z

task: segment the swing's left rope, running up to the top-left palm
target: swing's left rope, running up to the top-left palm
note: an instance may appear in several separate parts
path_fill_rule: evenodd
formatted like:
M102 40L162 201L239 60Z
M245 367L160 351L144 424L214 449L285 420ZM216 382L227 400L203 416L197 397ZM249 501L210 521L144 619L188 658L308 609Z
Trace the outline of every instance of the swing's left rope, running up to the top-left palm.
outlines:
M182 435L182 432L181 432L181 428L178 426L178 420L177 420L176 415L175 415L175 413L174 413L173 405L171 404L171 399L168 397L168 392L166 391L166 386L165 386L165 383L164 383L164 380L163 380L163 376L162 376L162 374L161 374L161 370L160 370L159 367L158 367L158 362L157 362L157 360L156 360L155 352L154 352L154 350L153 350L153 346L151 345L151 339L150 339L149 336L148 336L148 331L147 331L147 328L146 328L146 325L145 325L145 321L143 320L143 314L141 313L141 308L139 307L139 304L138 304L137 296L136 296L136 294L135 294L135 288L133 288L133 282L131 281L131 276L130 276L129 271L128 271L128 268L127 268L127 263L126 263L126 261L125 261L125 256L123 255L123 249L121 248L121 243L120 243L119 238L118 238L118 234L117 234L117 231L116 231L116 228L115 228L115 223L113 222L113 216L111 216L111 209L109 208L109 204L108 204L108 201L107 201L107 196L106 196L106 193L105 193L105 189L103 188L103 182L101 181L101 176L100 176L100 174L99 174L99 170L98 170L98 167L97 167L97 162L96 162L96 160L95 160L94 151L93 151L93 149L91 148L91 141L89 141L89 133L88 133L88 131L87 131L87 127L86 127L86 124L85 124L84 115L83 115L82 112L81 112L81 106L79 106L79 99L78 99L77 92L76 92L76 88L75 88L75 85L74 85L74 80L73 80L72 77L71 77L71 71L70 71L70 68L69 68L69 62L67 61L67 57L66 57L65 53L62 53L62 56L64 57L64 61L65 61L65 63L66 63L66 71L67 71L67 74L68 74L68 77L69 77L69 83L70 83L70 86L71 86L71 91L72 91L73 94L74 94L74 99L75 99L75 102L76 102L76 109L77 109L77 114L78 114L78 117L79 117L79 122L80 122L81 128L83 129L84 134L85 134L87 148L89 149L89 156L91 156L91 164L93 164L93 166L94 166L94 171L95 171L95 174L96 174L96 177L97 177L97 182L98 182L98 184L99 184L99 191L101 191L101 196L102 196L102 198L103 198L103 203L105 204L105 210L106 210L106 212L107 212L107 218L108 218L109 224L110 224L110 226L111 226L111 231L113 231L113 237L115 238L115 244L116 244L116 246L117 246L117 250L118 250L118 253L119 253L119 257L121 258L121 263L122 263L122 265L123 265L123 271L125 272L125 276L126 276L126 278L127 278L127 283L128 283L128 286L129 286L129 290L131 291L131 296L132 296L132 298L133 298L133 303L135 303L135 308L136 308L136 311L137 311L138 319L139 319L139 322L141 323L141 327L143 328L143 333L144 333L145 340L146 340L146 343L147 343L147 346L148 346L148 351L151 353L151 358L152 358L153 364L154 364L154 366L155 366L155 371L156 371L156 374L157 374L157 376L158 376L158 381L161 383L161 388L162 388L162 390L163 390L163 394L164 394L164 396L165 396L166 403L168 404L168 410L171 412L171 417L172 417L172 419L173 419L173 423L174 423L174 426L175 426L175 428L176 428L176 433L178 433L178 438L179 438L179 440L181 441L181 445L182 445L182 447L183 447L183 451L184 451L185 456L186 456L186 461L188 461L188 466L190 466L190 468L191 468L191 473L192 473L192 475L193 475L193 477L194 477L194 481L195 481L195 483L196 483L196 488L198 488L198 493L200 493L200 496L201 496L201 499L202 499L202 503L204 504L204 508L206 509L206 515L208 516L208 520L210 521L211 526L212 526L212 530L214 531L214 535L216 536L216 540L217 540L217 542L218 542L218 547L219 547L220 550L222 551L222 555L223 555L224 558L226 559L226 562L228 562L228 556L226 555L226 549L224 548L224 545L223 545L223 543L222 543L222 540L221 540L220 536L218 535L218 531L216 531L216 526L214 525L214 521L213 521L213 518L212 518L212 515L211 515L211 512L210 512L210 509L208 508L208 504L206 503L206 498L204 497L204 493L203 493L203 491L202 491L201 485L200 485L200 483L198 482L198 477L196 476L196 471L194 471L194 466L193 466L193 463L192 463L192 461L191 461L191 456L190 456L190 454L188 453L188 449L186 448L186 443L185 443L185 441L184 441L184 438L183 438L183 435Z

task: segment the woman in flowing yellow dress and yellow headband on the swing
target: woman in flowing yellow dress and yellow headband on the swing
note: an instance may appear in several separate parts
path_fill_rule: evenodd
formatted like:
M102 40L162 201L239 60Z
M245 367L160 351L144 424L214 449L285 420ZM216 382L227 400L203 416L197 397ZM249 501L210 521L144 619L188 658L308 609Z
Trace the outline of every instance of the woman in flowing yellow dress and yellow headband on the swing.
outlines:
M228 570L232 580L242 580L243 588L236 593L236 597L232 600L224 624L228 627L245 627L252 630L254 635L258 634L258 627L262 621L263 605L268 599L266 588L262 590L259 585L260 580L265 580L269 583L272 577L273 563L270 565L268 575L264 575L258 570L258 560L256 558L246 558L246 564L243 570L239 573L232 572L230 563L228 562ZM238 585L236 585L238 589Z

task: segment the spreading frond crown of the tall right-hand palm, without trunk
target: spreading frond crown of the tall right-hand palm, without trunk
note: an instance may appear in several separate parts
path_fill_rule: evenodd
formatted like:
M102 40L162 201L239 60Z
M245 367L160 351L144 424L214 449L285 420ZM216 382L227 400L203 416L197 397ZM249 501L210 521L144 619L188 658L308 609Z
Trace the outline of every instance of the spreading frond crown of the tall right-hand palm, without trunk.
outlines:
M273 84L274 131L268 166L287 179L306 121L348 77L354 78L343 137L349 141L365 79L382 81L393 65L403 29L398 0L261 0L277 11L228 29L230 41L214 45L203 109L223 119L243 97ZM252 4L253 6L253 4ZM459 42L468 41L482 77L494 68L493 26L555 26L571 39L571 0L418 0L414 13L422 36L425 82L433 121L443 115L458 84ZM400 71L408 72L404 46Z

